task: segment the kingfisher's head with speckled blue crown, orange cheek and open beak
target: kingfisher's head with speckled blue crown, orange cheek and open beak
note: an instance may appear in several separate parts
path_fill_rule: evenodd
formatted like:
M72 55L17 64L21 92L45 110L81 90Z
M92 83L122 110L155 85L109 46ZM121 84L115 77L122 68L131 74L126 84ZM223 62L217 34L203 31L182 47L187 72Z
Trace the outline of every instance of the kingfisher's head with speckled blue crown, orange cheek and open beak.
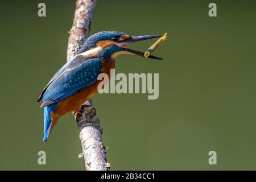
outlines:
M115 58L121 54L133 54L144 56L144 52L126 48L130 43L141 40L159 38L162 35L140 35L131 36L123 32L103 31L90 36L85 40L79 54L89 57L104 57L105 59ZM152 59L162 59L156 56L148 56Z

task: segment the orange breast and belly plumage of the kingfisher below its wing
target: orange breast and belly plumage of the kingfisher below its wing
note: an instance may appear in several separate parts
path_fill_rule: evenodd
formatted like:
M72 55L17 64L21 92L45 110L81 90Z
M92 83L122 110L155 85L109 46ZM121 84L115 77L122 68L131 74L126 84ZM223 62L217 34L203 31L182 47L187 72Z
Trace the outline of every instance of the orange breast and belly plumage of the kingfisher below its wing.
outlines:
M103 64L102 72L106 73L109 76L110 80L110 69L115 68L115 60L109 59L106 60ZM86 101L89 100L94 96L94 94L98 93L97 86L101 82L101 80L97 80L94 84L90 85L89 87L82 89L81 91L77 92L75 95L66 98L65 100L59 102L57 104L56 112L54 116L59 118L64 114L67 114L71 111L79 109L79 107Z

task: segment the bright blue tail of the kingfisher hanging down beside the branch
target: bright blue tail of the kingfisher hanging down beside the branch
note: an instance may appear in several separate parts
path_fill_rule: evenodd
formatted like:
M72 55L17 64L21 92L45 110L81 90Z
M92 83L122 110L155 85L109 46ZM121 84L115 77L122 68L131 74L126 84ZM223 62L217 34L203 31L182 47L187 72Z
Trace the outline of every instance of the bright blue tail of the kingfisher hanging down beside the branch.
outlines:
M46 142L49 136L49 132L52 126L52 119L51 119L51 111L54 111L56 105L46 106L44 107L44 138L43 141Z

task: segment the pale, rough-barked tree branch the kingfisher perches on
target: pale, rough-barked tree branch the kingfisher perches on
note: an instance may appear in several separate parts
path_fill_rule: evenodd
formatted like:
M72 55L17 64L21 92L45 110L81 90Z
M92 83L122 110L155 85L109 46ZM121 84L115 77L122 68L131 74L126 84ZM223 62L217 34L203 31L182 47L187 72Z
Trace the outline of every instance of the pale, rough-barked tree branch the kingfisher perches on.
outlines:
M76 55L88 37L96 2L96 0L77 0L72 28L69 31L67 60ZM100 120L92 106L92 100L82 104L80 111L82 114L73 113L82 145L82 153L79 157L84 156L87 171L106 171L110 168L110 164L106 161L106 148L101 139Z

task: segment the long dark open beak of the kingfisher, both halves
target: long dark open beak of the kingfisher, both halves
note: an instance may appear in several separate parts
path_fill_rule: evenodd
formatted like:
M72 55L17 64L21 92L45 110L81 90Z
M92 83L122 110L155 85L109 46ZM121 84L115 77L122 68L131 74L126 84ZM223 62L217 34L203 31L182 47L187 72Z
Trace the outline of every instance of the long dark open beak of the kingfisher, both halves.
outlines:
M141 41L141 40L160 38L161 36L163 36L163 35L139 35L139 36L131 36L130 39L126 40L126 43L133 43L133 42L138 42L138 41ZM124 49L125 49L124 51L130 52L130 53L132 53L132 54L134 54L134 55L138 55L138 56L144 57L144 52L137 51L137 50L130 49L130 48L124 48ZM162 58L156 57L156 56L153 56L153 55L148 56L148 58L162 60Z

